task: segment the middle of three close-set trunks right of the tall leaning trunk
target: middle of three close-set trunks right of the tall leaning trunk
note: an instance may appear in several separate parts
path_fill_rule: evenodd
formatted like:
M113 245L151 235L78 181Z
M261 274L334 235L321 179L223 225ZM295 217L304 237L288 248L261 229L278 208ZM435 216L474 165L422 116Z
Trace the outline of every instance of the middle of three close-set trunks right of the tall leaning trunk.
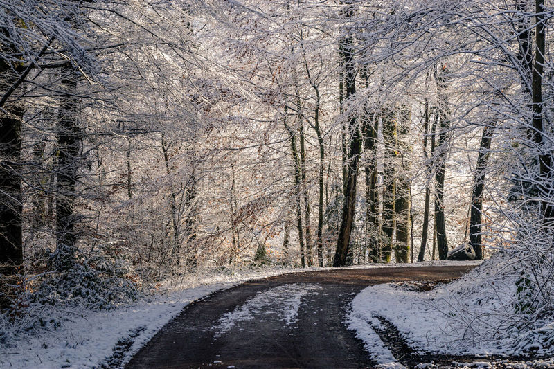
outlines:
M383 261L391 261L393 251L393 235L395 229L396 204L396 170L397 165L397 121L395 112L386 109L382 114L383 142L384 142L384 170L383 170L383 220L382 230L386 236L383 247Z

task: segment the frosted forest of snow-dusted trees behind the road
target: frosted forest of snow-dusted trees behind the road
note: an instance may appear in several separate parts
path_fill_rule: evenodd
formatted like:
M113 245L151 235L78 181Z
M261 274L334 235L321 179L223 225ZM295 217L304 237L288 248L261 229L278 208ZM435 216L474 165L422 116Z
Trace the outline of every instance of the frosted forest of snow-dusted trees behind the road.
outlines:
M552 314L553 15L0 0L0 343L45 306L460 245L510 260L516 316Z

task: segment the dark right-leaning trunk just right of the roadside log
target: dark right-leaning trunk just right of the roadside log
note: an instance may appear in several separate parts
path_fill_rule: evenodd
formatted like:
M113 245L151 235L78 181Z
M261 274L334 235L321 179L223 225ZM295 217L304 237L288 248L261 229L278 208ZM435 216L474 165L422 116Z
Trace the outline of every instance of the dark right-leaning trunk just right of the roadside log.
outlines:
M479 154L475 165L473 180L472 202L470 204L470 244L475 251L476 260L483 259L481 244L481 214L483 213L483 188L485 187L485 173L490 153L490 143L494 133L494 123L483 128Z

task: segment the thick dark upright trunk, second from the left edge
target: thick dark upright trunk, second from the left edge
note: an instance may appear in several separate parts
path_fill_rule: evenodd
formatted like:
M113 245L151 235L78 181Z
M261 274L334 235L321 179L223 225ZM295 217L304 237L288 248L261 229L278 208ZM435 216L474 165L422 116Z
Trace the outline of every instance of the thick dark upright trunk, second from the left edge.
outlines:
M77 235L74 213L75 187L80 166L82 132L78 123L79 99L77 71L72 66L61 69L62 95L57 120L57 197L56 197L56 246L57 267L67 271L75 264Z

